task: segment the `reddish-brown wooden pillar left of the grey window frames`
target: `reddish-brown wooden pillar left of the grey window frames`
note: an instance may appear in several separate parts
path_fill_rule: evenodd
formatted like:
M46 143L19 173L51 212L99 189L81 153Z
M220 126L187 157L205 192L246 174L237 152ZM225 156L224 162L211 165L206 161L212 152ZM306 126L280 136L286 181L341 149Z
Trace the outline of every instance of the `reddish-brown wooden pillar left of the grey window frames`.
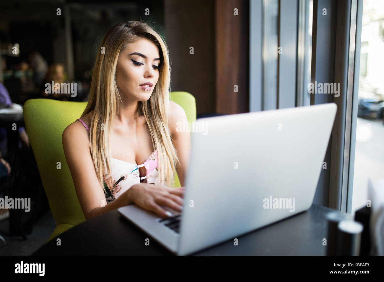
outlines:
M215 37L216 112L248 112L249 0L215 0Z

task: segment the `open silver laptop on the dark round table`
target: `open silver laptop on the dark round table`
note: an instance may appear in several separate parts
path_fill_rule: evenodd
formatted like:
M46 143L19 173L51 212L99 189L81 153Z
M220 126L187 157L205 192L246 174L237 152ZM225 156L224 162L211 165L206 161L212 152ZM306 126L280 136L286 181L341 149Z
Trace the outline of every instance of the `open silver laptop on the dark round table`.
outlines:
M310 208L334 103L197 119L182 213L118 209L170 252L187 255Z

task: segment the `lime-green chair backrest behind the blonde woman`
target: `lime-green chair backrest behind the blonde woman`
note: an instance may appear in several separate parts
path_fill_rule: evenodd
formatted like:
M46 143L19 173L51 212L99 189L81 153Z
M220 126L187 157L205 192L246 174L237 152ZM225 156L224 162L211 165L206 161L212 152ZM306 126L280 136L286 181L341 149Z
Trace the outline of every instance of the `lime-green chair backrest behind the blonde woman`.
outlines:
M189 122L196 120L194 96L188 92L171 92L170 100L183 107ZM23 107L26 131L56 225L75 226L85 221L65 160L61 135L68 125L81 116L86 104L87 102L30 99ZM179 186L176 173L175 187Z

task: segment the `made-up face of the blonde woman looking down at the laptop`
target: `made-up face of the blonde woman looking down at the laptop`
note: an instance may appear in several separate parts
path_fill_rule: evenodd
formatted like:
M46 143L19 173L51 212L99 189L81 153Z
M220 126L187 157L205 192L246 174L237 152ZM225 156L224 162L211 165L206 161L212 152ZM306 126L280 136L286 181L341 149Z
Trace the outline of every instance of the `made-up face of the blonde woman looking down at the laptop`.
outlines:
M116 82L123 101L147 101L159 79L159 49L147 39L128 44L120 51L116 66ZM150 82L152 87L140 85Z

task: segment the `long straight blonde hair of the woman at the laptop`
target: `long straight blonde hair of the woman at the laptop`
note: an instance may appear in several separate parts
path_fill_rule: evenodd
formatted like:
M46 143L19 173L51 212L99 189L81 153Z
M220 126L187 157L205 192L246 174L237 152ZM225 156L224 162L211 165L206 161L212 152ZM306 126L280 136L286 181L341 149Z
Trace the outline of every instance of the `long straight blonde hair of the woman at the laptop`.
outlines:
M151 133L152 146L157 150L159 182L162 185L174 185L174 172L179 165L168 127L170 65L166 43L143 21L119 23L113 26L101 41L93 69L88 104L81 115L83 117L94 110L89 126L91 155L100 185L104 187L106 194L109 193L107 189L112 190L112 187L106 185L109 181L104 178L111 172L112 124L122 102L115 77L116 64L120 51L127 44L141 38L146 38L158 46L161 68L151 97L148 101L138 102L136 122L139 116L144 115L146 126ZM105 48L105 54L101 52L101 47Z

